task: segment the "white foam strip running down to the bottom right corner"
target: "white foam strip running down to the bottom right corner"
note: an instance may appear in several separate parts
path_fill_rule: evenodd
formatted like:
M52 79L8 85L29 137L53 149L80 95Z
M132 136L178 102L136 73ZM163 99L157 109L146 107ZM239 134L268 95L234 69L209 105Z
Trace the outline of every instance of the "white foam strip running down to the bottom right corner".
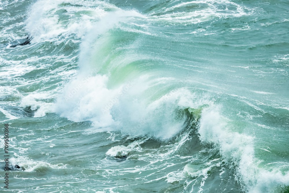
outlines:
M216 108L203 110L199 128L203 142L213 142L228 163L237 166L239 180L247 192L273 192L277 185L289 184L289 174L278 168L260 168L262 162L254 155L253 137L230 131L229 120L222 117Z

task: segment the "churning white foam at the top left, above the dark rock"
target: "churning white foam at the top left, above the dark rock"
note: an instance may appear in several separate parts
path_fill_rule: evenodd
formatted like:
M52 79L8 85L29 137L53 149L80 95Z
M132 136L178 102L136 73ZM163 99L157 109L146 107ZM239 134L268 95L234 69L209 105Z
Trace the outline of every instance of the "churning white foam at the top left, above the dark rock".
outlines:
M26 21L26 28L34 37L32 42L71 34L81 38L92 28L95 21L107 13L104 9L117 10L118 8L105 1L40 0L33 4Z

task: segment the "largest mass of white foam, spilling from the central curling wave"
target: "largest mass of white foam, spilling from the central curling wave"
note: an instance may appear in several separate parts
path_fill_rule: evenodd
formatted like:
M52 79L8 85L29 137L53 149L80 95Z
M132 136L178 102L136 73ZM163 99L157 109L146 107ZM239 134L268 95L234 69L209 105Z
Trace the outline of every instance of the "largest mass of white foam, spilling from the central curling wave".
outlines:
M185 90L178 91L176 95L175 92L167 93L153 102L140 98L147 89L164 84L170 81L170 78L151 80L150 76L144 75L109 89L107 85L109 75L97 74L98 71L90 64L93 39L118 22L127 21L128 17L135 16L142 15L135 11L117 11L107 14L96 23L97 28L91 30L83 39L79 56L79 73L66 85L53 111L76 122L92 121L96 128L109 130L112 127L132 136L149 134L167 139L179 132L185 121L185 119L175 121L173 111L180 105L196 107L201 102L184 104L187 100L183 98L191 97ZM180 104L177 104L178 102Z

